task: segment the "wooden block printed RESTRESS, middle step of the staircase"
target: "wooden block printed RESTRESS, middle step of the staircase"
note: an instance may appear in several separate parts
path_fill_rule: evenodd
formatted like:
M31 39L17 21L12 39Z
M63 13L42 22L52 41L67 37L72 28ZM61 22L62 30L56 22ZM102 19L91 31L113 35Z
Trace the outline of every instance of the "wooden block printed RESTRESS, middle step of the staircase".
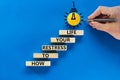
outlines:
M66 51L67 45L42 45L43 51Z

